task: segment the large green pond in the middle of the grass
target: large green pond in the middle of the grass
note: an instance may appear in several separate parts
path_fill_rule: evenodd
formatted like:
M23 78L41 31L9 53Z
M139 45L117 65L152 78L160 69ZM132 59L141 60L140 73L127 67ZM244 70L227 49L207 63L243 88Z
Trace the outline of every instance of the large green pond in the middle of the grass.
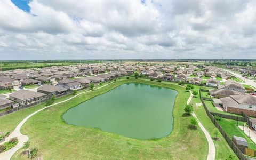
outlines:
M177 91L128 83L85 101L63 114L72 125L146 140L169 135Z

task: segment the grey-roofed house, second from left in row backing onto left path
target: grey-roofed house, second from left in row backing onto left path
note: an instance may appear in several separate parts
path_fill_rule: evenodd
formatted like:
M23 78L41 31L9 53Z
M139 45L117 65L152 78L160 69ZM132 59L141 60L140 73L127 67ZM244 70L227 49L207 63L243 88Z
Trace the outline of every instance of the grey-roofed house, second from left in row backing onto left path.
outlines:
M21 105L43 101L46 99L46 94L38 93L29 90L19 90L9 95L9 99L18 102Z

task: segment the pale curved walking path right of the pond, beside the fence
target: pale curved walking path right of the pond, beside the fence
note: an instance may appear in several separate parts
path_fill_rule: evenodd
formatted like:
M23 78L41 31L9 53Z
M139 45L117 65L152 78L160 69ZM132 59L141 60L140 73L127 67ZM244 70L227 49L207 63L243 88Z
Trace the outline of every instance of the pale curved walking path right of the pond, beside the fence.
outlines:
M193 98L193 94L190 91L190 97L188 98L187 105L189 105L189 103L191 102L192 98ZM214 160L215 159L215 145L213 143L212 137L208 133L208 131L205 129L203 124L199 121L199 119L197 118L196 114L192 113L192 116L197 119L198 125L202 129L202 131L204 132L204 135L205 135L205 137L206 137L206 139L208 141L209 150L208 150L207 160Z

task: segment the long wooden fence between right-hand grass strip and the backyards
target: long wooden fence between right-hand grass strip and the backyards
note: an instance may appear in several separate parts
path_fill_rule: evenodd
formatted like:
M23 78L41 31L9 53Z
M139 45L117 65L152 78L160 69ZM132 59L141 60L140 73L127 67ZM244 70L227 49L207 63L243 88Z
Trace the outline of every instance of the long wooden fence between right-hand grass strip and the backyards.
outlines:
M204 109L206 111L207 116L211 119L211 121L215 125L215 127L217 127L217 129L219 129L221 135L225 138L225 140L227 141L228 145L232 148L232 150L234 151L234 153L237 155L237 157L239 159L247 160L247 158L244 156L242 151L236 147L235 143L231 140L231 138L228 137L227 133L222 129L220 124L214 119L214 116L212 115L212 113L209 111L209 109L205 105L205 103L204 103L204 101L203 101L203 99L201 97L201 92L200 91L199 91L199 96L200 96L200 99L202 101L202 104L204 106ZM246 121L247 121L247 118L246 118Z

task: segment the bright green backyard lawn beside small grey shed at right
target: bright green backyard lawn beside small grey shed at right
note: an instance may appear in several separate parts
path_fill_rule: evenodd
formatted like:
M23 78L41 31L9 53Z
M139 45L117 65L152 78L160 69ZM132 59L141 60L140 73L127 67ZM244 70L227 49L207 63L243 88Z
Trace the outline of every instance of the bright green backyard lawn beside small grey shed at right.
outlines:
M237 127L237 121L223 118L222 121L218 121L222 129L228 134L228 137L232 138L233 135L243 137L247 140L250 149L256 150L256 144L241 130ZM245 122L238 122L239 125L243 126Z

